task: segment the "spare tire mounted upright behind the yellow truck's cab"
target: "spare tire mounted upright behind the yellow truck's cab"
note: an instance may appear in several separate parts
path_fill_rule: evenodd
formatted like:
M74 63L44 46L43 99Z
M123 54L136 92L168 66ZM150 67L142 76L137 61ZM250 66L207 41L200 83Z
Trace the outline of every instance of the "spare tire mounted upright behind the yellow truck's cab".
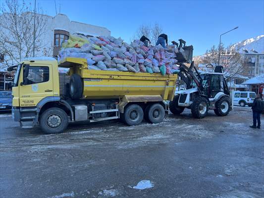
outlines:
M70 96L72 99L80 99L83 97L82 78L78 74L72 74L70 77Z

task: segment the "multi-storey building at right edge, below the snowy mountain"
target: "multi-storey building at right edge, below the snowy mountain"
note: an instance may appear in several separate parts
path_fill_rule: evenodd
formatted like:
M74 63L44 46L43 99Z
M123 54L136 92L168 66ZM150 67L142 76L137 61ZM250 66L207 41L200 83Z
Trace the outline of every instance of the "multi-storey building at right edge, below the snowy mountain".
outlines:
M244 76L253 78L264 74L264 53L244 50L240 54L245 68Z

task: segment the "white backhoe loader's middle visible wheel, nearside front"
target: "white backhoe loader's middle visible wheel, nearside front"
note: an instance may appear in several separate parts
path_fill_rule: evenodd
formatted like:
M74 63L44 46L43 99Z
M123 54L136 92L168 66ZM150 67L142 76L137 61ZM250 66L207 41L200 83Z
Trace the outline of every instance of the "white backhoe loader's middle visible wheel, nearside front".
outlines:
M194 118L204 118L209 110L209 102L204 97L197 97L193 100L192 103L192 115Z

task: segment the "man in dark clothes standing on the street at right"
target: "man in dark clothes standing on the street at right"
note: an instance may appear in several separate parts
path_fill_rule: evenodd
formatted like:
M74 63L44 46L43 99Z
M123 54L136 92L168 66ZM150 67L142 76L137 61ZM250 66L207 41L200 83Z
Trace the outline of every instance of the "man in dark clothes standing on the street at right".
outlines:
M260 95L257 95L254 99L254 102L252 104L252 111L253 111L253 125L250 126L251 128L261 128L261 112L264 108L264 101L260 98ZM258 126L257 126L258 121Z

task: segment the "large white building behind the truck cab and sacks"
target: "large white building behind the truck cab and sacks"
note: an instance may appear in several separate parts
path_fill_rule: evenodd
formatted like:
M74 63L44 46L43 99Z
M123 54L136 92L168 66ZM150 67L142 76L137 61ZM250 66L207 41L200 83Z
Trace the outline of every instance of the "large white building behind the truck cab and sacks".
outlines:
M34 13L32 12L24 12L23 17L24 15L28 15L28 18L34 18ZM6 18L6 16L8 17L8 13L0 15L0 20L2 20L4 17ZM70 34L75 33L85 36L110 36L111 34L111 32L105 27L71 21L65 14L57 14L54 17L44 14L37 14L36 18L42 18L43 21L45 21L45 26L42 30L43 34L41 34L37 40L37 45L39 48L35 51L35 56L57 56L62 42L67 40ZM2 29L2 31L5 32L6 35L12 34L7 32L9 31L7 29ZM2 53L3 51L0 51L0 59L2 57ZM8 61L7 55L3 55L5 55L5 59ZM19 57L18 54L14 54L13 56ZM22 58L24 57L26 57L25 54L22 54ZM0 68L3 68L1 64L3 63L0 63Z

